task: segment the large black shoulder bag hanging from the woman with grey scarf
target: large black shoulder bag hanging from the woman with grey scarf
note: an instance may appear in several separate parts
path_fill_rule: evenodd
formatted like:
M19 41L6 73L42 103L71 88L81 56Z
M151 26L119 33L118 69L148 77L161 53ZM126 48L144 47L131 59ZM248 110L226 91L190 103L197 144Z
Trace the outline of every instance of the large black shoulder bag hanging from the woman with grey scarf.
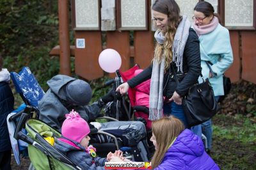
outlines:
M172 65L175 81L179 84L177 74ZM205 79L200 75L203 82L200 84L194 84L188 90L185 97L182 98L182 104L184 105L184 113L189 127L199 125L209 120L219 111L220 105L214 98L211 83L209 79Z

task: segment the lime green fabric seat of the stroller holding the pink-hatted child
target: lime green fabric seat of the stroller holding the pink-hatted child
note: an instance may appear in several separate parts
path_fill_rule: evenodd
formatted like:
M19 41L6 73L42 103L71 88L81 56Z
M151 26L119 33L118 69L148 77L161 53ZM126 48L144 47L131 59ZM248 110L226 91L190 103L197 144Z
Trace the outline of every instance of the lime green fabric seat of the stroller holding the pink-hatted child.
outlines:
M26 130L28 137L33 140L28 148L29 158L35 169L81 169L44 138L59 138L61 137L60 132L49 127L43 121L33 118L26 121Z

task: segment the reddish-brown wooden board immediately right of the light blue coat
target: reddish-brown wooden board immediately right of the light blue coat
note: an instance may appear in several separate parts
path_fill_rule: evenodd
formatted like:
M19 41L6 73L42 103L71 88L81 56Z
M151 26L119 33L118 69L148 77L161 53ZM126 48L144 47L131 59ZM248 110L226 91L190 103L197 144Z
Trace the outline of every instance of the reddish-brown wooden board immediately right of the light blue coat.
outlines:
M239 55L239 33L238 31L229 31L230 42L233 51L234 62L225 72L225 75L230 77L232 82L239 81L241 77L241 60Z

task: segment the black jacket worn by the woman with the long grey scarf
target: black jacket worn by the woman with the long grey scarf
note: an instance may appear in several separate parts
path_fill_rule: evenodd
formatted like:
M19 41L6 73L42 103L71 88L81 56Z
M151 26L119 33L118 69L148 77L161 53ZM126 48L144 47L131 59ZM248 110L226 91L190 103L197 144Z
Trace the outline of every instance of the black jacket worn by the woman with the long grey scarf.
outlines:
M173 65L175 72L177 72L177 67L175 64ZM165 97L172 97L173 92L176 91L181 97L184 97L188 92L190 86L198 82L198 77L201 73L201 59L200 59L200 47L198 36L195 31L191 28L189 29L188 40L185 45L184 53L183 53L183 75L178 72L177 77L179 78L180 84L177 86L174 77L172 77L172 68L171 70L166 70L164 74L164 84L166 84L166 88L164 88L163 95ZM168 79L168 75L171 76ZM150 79L152 73L152 65L148 66L143 72L141 72L136 77L133 77L131 80L127 81L130 87L135 87L143 81ZM168 80L168 82L167 82Z

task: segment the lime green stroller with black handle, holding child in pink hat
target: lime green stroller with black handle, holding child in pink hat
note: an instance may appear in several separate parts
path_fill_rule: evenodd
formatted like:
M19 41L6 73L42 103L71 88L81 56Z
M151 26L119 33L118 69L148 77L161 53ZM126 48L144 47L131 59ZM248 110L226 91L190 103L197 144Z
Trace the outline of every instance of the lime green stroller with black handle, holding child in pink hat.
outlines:
M24 110L9 117L9 121L19 118L13 138L21 139L29 144L29 158L34 166L29 166L29 169L81 169L44 139L50 136L60 137L61 134L42 121L32 118L34 111L33 107L27 106ZM25 124L28 135L22 132Z

